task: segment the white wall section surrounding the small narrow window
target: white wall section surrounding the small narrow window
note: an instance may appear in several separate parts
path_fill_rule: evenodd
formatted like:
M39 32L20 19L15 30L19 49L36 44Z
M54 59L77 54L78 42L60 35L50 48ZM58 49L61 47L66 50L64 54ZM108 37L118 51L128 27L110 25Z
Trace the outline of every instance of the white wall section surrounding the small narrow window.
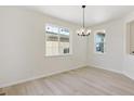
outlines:
M123 63L123 22L117 20L92 27L89 37L89 65L109 71L122 72ZM104 54L94 51L94 34L96 30L106 30L106 52Z

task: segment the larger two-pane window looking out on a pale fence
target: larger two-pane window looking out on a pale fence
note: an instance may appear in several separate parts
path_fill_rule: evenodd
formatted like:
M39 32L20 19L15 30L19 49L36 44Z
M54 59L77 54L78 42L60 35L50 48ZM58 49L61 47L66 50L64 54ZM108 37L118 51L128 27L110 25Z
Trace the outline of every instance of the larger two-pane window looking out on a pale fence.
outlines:
M65 55L70 53L69 29L46 24L45 55Z

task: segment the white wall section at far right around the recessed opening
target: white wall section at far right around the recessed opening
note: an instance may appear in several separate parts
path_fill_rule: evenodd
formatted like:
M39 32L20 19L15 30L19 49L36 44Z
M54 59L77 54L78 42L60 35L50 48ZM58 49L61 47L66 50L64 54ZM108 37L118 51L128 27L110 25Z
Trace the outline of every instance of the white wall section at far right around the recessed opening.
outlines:
M134 79L134 55L131 55L128 51L126 48L130 47L129 45L129 36L128 30L126 30L126 24L134 21L134 12L130 13L125 18L124 18L124 62L123 62L123 73ZM128 43L126 43L128 42ZM128 45L128 46L126 46Z

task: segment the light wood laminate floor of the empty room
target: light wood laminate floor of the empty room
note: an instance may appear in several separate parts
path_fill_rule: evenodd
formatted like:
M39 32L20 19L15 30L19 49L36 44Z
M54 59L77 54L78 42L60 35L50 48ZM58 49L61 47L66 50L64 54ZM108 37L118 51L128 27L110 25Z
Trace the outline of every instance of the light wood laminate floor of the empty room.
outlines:
M134 80L122 74L83 67L4 90L10 96L131 96L134 94Z

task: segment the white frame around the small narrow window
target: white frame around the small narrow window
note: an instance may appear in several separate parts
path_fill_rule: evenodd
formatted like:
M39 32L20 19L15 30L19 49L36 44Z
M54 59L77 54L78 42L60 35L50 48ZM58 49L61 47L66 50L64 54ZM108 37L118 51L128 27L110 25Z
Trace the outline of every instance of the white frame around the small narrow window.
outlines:
M97 35L98 33L105 34L104 52L96 51L96 35ZM106 53L106 30L105 30L105 29L96 30L96 31L94 33L94 53L95 53L95 54L105 54L105 53Z

